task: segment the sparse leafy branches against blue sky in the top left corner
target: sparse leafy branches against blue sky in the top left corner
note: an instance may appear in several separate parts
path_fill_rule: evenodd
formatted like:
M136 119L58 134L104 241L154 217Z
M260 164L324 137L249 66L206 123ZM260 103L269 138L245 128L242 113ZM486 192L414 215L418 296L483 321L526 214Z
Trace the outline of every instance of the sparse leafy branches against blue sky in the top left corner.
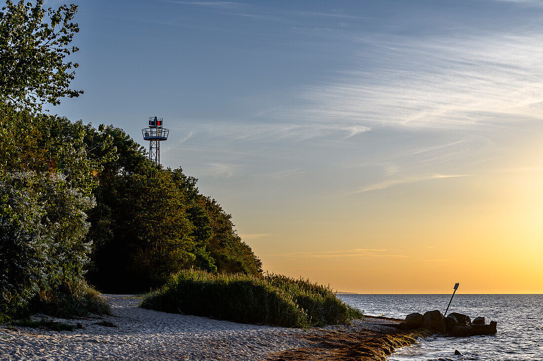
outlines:
M0 11L0 100L18 109L41 111L44 103L57 105L62 97L83 94L70 88L71 69L79 65L65 61L79 50L69 46L79 32L72 22L77 5L42 6L43 0L35 5L8 0Z

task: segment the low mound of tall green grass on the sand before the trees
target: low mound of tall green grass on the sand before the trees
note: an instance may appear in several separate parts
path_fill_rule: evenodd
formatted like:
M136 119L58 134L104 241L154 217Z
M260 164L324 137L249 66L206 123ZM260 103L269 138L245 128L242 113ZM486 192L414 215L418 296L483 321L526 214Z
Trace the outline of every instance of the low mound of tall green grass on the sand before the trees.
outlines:
M147 295L141 307L245 324L311 327L345 324L362 312L329 287L281 275L211 274L184 270Z

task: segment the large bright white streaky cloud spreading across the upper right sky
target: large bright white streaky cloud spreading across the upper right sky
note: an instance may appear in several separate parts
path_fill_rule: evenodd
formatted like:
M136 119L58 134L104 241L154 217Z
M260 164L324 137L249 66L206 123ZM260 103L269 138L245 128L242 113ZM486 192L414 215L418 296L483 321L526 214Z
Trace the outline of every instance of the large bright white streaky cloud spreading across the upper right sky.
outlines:
M358 46L364 53L352 58L363 66L303 87L307 106L282 116L436 129L541 116L543 35L382 35Z

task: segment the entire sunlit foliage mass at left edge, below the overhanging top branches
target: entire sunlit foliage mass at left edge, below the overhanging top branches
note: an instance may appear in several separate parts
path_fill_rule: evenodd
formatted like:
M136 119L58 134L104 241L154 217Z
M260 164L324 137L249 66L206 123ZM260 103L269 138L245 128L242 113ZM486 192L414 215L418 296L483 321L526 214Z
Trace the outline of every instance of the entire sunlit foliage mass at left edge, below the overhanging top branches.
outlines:
M92 172L85 127L0 103L0 312L14 314L40 292L81 282Z

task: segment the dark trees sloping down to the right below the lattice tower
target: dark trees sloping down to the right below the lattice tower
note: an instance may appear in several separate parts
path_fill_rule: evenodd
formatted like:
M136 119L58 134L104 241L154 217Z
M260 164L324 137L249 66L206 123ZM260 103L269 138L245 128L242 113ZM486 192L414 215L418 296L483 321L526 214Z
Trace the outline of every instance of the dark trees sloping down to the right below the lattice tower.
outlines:
M95 133L93 133L95 132ZM122 129L104 127L112 141L94 189L87 239L94 244L87 278L100 289L141 292L162 286L171 274L191 267L210 272L256 274L261 263L233 230L230 215L198 192L181 169L151 163ZM87 147L98 137L89 129ZM103 142L102 138L99 142Z

